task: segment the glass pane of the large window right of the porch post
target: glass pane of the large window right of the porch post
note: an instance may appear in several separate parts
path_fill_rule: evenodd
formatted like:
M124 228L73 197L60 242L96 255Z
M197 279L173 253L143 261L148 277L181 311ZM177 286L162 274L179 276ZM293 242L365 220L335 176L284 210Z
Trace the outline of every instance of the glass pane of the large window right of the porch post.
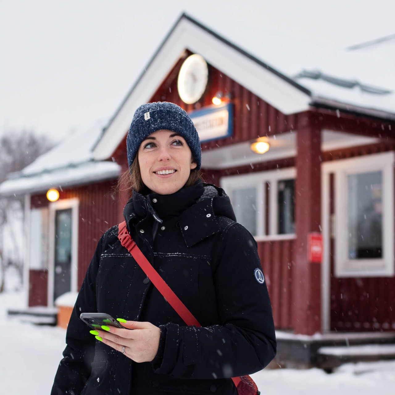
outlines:
M382 172L348 175L348 258L383 256Z

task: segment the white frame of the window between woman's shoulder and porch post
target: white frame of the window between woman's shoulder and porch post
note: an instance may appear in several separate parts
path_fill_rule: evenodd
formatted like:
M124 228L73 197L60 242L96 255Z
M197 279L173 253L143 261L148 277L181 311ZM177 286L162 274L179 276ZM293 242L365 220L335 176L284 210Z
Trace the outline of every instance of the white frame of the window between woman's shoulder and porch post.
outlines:
M285 169L258 171L255 173L240 174L234 176L224 176L220 178L220 186L229 195L232 202L233 190L241 188L256 188L256 226L257 234L254 235L256 241L268 240L288 240L295 239L295 233L278 234L278 181L296 179L296 168L287 167ZM269 229L266 229L266 194L265 185L269 182ZM233 204L233 202L232 202ZM267 234L266 234L267 233Z

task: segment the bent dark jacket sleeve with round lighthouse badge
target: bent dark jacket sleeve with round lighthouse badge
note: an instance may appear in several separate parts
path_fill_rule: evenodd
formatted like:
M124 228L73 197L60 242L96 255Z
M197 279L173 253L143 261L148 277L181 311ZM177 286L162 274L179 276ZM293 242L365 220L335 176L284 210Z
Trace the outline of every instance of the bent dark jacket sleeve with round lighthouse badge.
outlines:
M276 354L275 328L256 241L233 224L216 243L214 284L218 325L166 324L165 345L156 373L175 378L229 378L260 371ZM218 248L220 246L220 248ZM222 248L223 247L223 248ZM263 281L263 282L262 282Z

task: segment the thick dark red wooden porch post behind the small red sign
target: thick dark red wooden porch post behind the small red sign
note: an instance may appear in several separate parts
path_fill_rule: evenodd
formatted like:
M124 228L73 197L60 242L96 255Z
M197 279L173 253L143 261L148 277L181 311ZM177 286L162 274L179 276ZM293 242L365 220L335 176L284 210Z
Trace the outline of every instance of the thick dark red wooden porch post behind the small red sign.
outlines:
M321 229L321 130L303 119L297 130L295 216L296 248L293 267L293 328L295 333L321 332L321 265L311 263L308 234Z

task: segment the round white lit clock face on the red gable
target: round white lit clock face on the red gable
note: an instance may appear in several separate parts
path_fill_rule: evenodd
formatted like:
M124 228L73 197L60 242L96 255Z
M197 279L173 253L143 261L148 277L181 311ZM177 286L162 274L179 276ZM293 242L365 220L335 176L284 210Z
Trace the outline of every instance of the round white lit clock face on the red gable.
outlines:
M177 88L181 100L186 104L196 103L207 87L209 68L203 56L188 56L181 66Z

